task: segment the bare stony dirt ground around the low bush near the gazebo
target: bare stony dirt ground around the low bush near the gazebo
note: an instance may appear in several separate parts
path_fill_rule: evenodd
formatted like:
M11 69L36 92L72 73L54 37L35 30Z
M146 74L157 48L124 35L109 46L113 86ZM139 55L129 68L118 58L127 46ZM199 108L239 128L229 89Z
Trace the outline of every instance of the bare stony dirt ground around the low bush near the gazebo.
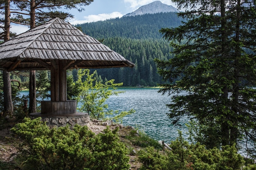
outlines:
M92 120L88 123L88 128L92 130L95 134L98 134L102 132L104 129L107 128L107 126L110 127L110 129L115 129L116 127L119 127L119 136L125 136L128 132L128 129L132 127L124 127L120 124L112 124L111 121L101 122L98 120ZM11 137L11 128L4 128L0 130L0 159L2 161L12 161L13 158L16 157L18 150L13 146L11 140L13 138ZM121 141L124 140L122 137L120 137ZM135 152L138 151L140 148L135 148ZM137 156L129 155L130 157L130 170L138 170L141 166L141 163L139 163Z

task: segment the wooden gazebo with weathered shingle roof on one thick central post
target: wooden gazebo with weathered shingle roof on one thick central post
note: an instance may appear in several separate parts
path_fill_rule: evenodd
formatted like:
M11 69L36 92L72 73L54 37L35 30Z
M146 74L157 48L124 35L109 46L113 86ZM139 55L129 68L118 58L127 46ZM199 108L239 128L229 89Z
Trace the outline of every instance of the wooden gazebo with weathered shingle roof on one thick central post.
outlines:
M67 100L67 69L133 66L108 46L59 18L0 44L0 69L51 70L51 101L41 102L41 114L46 115L76 113L76 101Z

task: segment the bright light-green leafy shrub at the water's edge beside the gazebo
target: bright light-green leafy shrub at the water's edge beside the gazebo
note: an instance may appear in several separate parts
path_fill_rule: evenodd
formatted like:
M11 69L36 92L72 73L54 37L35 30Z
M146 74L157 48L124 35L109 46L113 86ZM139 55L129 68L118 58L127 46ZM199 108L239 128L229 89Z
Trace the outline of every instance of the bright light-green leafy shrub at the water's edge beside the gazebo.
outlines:
M124 93L122 91L114 91L117 86L122 86L123 83L114 83L114 79L103 80L97 75L97 71L90 74L89 69L80 69L78 71L78 79L76 81L79 88L79 95L76 97L77 101L81 104L78 108L81 112L89 113L91 119L105 119L106 115L113 115L110 119L115 122L121 122L122 118L126 115L130 115L135 110L123 111L119 113L119 110L108 110L108 104L105 104L106 100L111 95L118 95Z

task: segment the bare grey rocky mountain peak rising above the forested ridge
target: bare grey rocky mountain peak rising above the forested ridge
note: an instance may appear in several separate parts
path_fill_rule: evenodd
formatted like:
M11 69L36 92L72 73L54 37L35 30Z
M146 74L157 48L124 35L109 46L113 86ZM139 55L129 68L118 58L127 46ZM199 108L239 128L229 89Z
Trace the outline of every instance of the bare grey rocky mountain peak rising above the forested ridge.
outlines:
M157 0L151 2L150 4L139 7L139 9L124 15L127 16L135 16L135 15L143 15L146 13L161 13L161 12L179 12L178 9L171 5L163 4L161 1Z

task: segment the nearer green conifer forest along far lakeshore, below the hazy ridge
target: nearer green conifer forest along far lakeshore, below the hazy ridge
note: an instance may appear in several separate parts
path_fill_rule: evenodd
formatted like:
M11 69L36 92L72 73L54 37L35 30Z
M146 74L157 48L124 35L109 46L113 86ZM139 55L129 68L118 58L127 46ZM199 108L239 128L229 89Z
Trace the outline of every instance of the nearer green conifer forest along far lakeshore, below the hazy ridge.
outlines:
M124 86L157 86L161 77L157 73L154 58L167 60L171 57L171 47L164 40L133 40L124 38L107 38L103 44L133 62L134 68L101 68L97 69L101 78L115 79ZM95 69L90 69L94 71ZM77 70L73 70L76 80Z

